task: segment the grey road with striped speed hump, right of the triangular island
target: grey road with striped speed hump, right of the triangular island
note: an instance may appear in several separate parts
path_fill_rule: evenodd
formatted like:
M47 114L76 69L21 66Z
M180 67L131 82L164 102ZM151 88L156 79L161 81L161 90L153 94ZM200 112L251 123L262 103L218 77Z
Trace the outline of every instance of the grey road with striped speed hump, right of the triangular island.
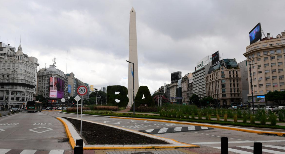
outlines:
M59 117L62 116L62 113L58 112L48 112L48 114ZM76 115L71 114L64 114L64 116L76 118ZM80 119L80 114L78 115L78 119ZM246 149L248 146L253 146L253 142L258 141L262 142L263 146L268 146L265 148L269 149L269 151L274 149L272 146L278 146L278 151L276 153L285 153L285 137L281 136L259 135L255 133L246 133L228 129L213 129L209 127L181 125L147 120L116 119L95 116L83 116L82 119L102 124L124 127L144 133L150 133L160 137L174 139L183 143L199 145L201 147L206 146L219 148L221 146L221 137L228 137L229 148L239 149L243 147ZM270 153L274 153L274 151L270 151Z

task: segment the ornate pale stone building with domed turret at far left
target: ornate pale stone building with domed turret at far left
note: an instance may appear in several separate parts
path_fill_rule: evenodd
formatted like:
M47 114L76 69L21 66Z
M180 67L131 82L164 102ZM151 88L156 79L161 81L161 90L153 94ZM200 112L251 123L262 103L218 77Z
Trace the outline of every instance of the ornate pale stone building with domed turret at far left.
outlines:
M0 107L25 108L35 100L38 59L0 42Z

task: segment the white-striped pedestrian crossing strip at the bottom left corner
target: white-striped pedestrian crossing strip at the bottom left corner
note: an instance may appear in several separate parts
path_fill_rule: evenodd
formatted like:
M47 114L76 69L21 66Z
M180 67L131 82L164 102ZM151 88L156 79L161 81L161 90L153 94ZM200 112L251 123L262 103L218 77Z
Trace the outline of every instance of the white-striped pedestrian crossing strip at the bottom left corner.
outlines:
M73 150L32 150L32 149L0 149L0 154L37 154L37 153L47 153L47 154L72 154Z

